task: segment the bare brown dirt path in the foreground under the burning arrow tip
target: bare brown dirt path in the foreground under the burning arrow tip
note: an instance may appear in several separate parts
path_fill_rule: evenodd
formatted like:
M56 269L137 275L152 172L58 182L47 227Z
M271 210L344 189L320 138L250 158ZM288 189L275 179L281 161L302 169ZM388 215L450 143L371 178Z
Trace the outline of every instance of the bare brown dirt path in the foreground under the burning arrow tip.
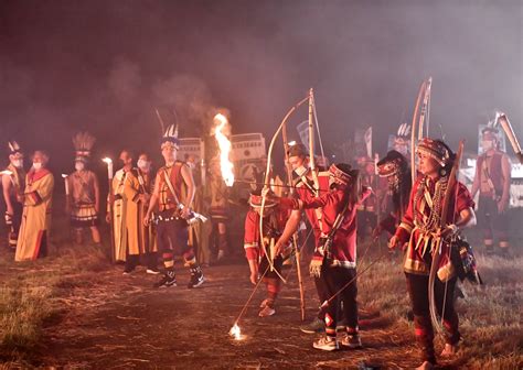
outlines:
M314 350L314 336L298 329L295 278L282 291L276 316L256 316L254 305L264 295L262 289L257 292L239 322L245 337L233 340L227 331L252 291L246 266L214 266L205 273L206 283L196 290L185 287L186 271L179 271L179 286L153 290L156 278L143 272L121 276L116 268L102 273L97 284L68 286L64 304L71 309L47 325L43 363L68 369L289 369L356 368L362 362L409 368L416 362L410 331L401 333L391 319L364 309L365 349ZM310 281L306 287L312 318L317 301Z

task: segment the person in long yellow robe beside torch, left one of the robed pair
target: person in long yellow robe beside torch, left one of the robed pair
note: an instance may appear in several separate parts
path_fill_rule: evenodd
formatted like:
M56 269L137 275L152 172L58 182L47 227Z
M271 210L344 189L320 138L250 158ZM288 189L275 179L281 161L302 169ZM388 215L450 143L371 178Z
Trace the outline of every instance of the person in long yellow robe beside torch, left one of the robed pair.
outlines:
M128 173L132 170L132 153L125 149L120 152L119 156L122 167L115 173L111 183L111 194L108 196L107 202L107 222L111 224L113 237L114 237L114 251L113 260L115 262L125 262L127 259L127 207L129 199L125 194L126 179ZM113 207L113 216L110 207Z

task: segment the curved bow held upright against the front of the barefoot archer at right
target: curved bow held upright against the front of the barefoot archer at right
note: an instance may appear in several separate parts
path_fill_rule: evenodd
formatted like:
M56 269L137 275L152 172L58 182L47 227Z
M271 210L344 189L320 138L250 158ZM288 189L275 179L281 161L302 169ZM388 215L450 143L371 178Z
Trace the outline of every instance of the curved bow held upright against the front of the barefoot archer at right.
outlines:
M457 186L458 186L457 176L458 176L459 165L461 162L461 156L463 153L463 146L465 146L465 142L461 140L459 142L458 152L456 153L456 159L452 165L452 170L450 171L447 189L445 191L444 203L441 205L441 215L440 215L441 218L440 218L440 224L439 224L440 230L444 230L447 226L447 216L448 216L448 210L449 210L449 205L450 205L450 197L452 196L452 188L456 186L456 189L457 189ZM456 213L456 207L453 211ZM430 264L430 274L428 276L428 308L430 312L430 320L433 323L433 326L436 328L438 333L441 333L442 328L436 315L436 297L435 297L435 292L434 292L434 284L436 282L436 275L439 268L439 261L441 260L442 243L444 243L444 238L439 236L435 240L436 248L434 248L433 250L433 262ZM445 307L442 309L445 309ZM441 319L442 317L444 317L444 313L441 313Z

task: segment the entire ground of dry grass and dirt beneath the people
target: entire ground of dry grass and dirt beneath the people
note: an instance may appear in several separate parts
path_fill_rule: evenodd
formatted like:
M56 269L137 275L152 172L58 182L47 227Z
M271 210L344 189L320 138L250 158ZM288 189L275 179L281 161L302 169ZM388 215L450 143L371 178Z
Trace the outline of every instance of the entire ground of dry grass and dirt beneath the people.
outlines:
M0 369L401 369L419 362L398 255L383 257L359 280L365 348L325 353L313 350L313 336L297 328L293 272L276 316L256 317L263 289L256 293L241 320L245 337L235 341L227 331L252 291L245 261L207 269L202 290L182 286L189 278L181 266L180 286L151 290L154 278L142 272L121 276L121 266L107 262L104 248L73 247L65 225L58 220L55 226L51 255L44 260L14 263L1 249ZM365 247L361 244L360 255ZM517 248L512 259L478 253L485 285L462 285L467 297L458 302L458 312L463 341L441 368L523 368L523 258ZM374 248L360 270L383 252ZM310 279L305 280L311 318L318 302ZM437 350L441 347L438 338Z

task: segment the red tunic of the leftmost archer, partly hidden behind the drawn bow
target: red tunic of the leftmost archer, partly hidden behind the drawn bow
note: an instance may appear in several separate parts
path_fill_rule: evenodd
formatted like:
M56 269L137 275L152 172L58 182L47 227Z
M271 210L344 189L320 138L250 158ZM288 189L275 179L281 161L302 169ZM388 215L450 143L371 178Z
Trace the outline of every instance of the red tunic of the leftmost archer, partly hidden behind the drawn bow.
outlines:
M282 210L280 207L277 207L275 211L276 214L268 216L264 215L264 237L267 237L269 231L276 231L279 235L285 229L285 224L287 222L289 213ZM265 246L268 248L267 241L265 242ZM253 209L249 209L245 217L244 249L245 257L249 261L259 261L260 258L265 257L259 240L259 215Z

